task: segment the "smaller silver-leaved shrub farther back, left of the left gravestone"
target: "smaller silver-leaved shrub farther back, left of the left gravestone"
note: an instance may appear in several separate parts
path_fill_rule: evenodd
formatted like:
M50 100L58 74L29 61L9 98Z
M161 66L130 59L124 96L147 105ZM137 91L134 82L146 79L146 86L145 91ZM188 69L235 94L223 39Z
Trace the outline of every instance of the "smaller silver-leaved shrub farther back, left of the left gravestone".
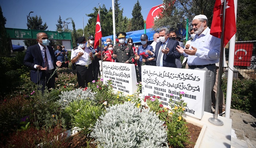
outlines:
M60 99L58 100L58 102L60 103L60 106L64 109L70 104L70 102L74 102L75 100L84 99L94 101L95 94L95 92L91 92L90 88L77 88L76 90L72 91L62 91L61 95L59 95Z

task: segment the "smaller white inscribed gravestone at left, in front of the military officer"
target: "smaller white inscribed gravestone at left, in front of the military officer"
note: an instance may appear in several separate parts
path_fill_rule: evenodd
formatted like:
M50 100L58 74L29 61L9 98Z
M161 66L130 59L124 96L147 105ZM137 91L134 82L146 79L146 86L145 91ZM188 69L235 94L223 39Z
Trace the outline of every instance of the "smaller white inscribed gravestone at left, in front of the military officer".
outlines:
M111 79L113 90L133 94L136 89L136 72L134 64L102 62L103 83Z

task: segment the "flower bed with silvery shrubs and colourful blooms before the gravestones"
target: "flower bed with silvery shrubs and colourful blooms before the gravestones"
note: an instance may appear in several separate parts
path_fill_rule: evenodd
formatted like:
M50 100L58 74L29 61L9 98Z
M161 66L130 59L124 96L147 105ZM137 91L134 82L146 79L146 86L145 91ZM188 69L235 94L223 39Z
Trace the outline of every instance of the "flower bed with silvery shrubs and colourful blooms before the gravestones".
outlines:
M61 77L65 78L65 76ZM88 88L84 89L76 89L75 85L70 85L74 83L73 79L60 81L62 81L60 86L65 87L52 89L44 94L35 90L20 96L21 102L24 103L6 116L7 119L15 117L14 121L0 122L1 128L3 128L2 125L13 127L1 133L0 146L13 145L10 143L10 138L14 134L19 136L29 133L27 132L29 129L42 129L41 132L45 131L50 134L54 133L52 129L56 127L67 130L74 126L80 129L80 134L76 137L86 138L83 146L89 145L91 141L94 141L92 147L95 145L103 147L113 145L116 147L125 147L125 145L189 147L193 144L189 139L194 139L194 135L190 136L192 132L189 132L188 124L182 117L186 106L184 100L176 104L172 101L169 103L170 108L164 108L157 96L146 96L144 102L147 103L148 109L144 109L139 97L141 84L137 84L138 90L135 94L124 95L121 92L113 92L111 80L108 80L108 84L103 84L102 79L93 81L89 83ZM180 92L180 97L183 93ZM10 100L15 100L15 98L12 97ZM5 108L12 106L10 103L13 102L15 103L9 100L1 102L0 109L7 110ZM20 132L15 132L17 130ZM38 140L32 138L33 134L25 135L32 139L31 143L34 144L46 141L45 145L48 145L52 138L46 137L47 140ZM106 137L112 138L106 139ZM63 141L65 144L66 142Z

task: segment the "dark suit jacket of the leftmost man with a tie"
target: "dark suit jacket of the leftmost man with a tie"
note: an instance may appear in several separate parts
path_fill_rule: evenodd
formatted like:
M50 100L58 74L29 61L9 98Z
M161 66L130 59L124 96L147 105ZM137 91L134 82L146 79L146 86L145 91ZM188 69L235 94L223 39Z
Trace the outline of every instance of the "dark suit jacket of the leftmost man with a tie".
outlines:
M53 48L51 46L47 46L53 61L53 66L54 69L56 69L56 61L57 58L54 55L54 51ZM49 58L49 57L48 57ZM44 59L42 57L41 54L41 49L40 46L38 44L33 45L33 46L29 46L26 50L26 55L25 58L23 60L23 65L27 66L30 68L30 79L31 81L33 81L34 83L38 83L38 81L40 80L40 78L42 77L42 73L44 71L40 71L38 69L34 68L34 65L40 65L42 67L44 67ZM57 76L57 73L55 74Z

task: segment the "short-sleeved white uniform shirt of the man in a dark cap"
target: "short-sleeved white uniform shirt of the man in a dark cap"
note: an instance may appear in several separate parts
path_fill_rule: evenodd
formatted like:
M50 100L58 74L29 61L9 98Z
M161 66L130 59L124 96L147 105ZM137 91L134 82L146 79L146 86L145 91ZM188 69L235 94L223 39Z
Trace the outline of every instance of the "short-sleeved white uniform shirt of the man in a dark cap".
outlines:
M89 53L91 52L91 49L88 48L88 47L85 47L84 50L78 46L75 50L72 50L71 51L71 60L73 58L75 58L76 56L78 56L78 53L79 52L82 52L84 53L83 56L79 57L79 59L75 62L75 64L78 64L78 65L90 65L91 64L91 60L89 61L89 63L87 63L87 61L89 60Z

